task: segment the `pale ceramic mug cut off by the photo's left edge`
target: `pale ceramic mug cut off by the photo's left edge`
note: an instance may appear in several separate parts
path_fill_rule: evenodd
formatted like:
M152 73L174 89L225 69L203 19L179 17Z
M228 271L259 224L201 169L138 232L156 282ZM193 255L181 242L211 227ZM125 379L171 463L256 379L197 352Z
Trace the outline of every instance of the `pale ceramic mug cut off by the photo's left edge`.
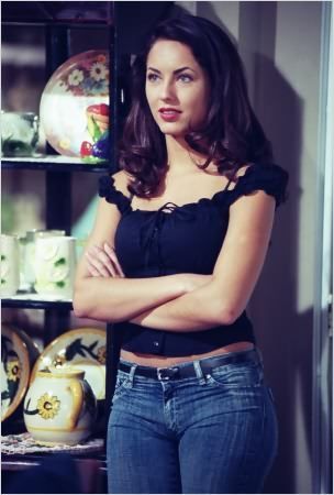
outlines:
M1 234L1 297L14 296L20 286L20 252L16 235Z

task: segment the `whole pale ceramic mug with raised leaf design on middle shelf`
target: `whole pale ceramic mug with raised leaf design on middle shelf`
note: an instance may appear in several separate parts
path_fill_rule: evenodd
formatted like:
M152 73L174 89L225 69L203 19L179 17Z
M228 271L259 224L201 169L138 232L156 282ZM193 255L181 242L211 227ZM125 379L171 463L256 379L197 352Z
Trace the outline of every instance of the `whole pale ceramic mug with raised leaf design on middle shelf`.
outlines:
M38 294L71 298L76 271L76 238L37 238L34 266L34 287Z

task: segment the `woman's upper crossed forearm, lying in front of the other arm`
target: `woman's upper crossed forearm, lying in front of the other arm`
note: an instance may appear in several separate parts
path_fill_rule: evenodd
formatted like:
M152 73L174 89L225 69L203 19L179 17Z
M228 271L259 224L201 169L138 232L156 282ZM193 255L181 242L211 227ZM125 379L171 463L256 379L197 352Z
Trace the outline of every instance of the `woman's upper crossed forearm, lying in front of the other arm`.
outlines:
M185 274L153 278L86 277L76 284L74 311L82 318L126 321L188 290Z

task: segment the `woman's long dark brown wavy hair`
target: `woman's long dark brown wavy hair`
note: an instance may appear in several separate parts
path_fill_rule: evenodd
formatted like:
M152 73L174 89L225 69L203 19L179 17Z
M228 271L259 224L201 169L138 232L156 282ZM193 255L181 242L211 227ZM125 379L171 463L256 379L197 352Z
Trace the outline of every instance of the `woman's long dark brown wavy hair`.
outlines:
M188 145L208 156L220 174L233 178L252 162L272 162L267 140L249 102L243 63L230 37L207 19L183 14L158 24L132 65L132 105L119 146L120 165L133 180L129 190L154 196L167 172L165 135L155 122L145 95L147 56L157 40L186 44L211 85L209 111L200 129L189 132Z

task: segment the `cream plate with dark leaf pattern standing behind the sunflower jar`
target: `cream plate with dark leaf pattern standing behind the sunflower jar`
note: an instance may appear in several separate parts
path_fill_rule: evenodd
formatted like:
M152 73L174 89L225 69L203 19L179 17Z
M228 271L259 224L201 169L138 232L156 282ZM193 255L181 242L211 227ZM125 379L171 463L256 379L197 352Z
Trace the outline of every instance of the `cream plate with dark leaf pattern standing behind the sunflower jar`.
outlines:
M57 337L37 359L31 374L48 366L70 366L85 371L98 400L105 398L105 330L78 328Z

